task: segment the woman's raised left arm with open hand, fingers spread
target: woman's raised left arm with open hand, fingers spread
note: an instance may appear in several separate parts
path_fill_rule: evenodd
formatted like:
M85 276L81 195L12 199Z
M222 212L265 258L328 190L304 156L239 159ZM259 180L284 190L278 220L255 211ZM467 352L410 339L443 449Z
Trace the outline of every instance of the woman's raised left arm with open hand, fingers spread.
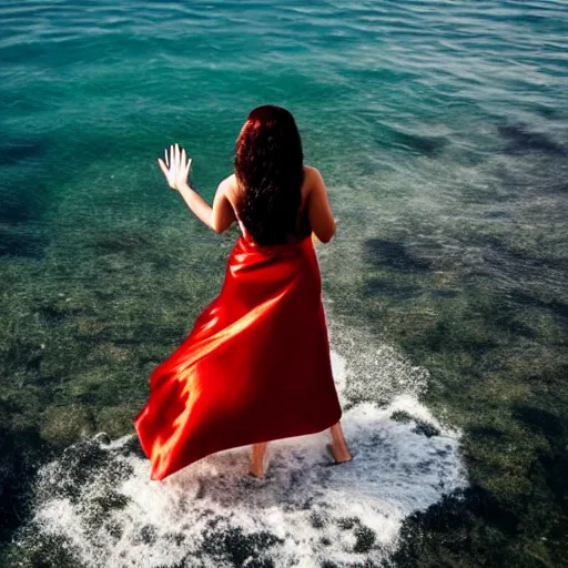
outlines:
M191 162L191 159L187 160L185 150L182 150L180 153L180 146L178 144L170 146L170 158L168 156L168 151L165 151L165 163L161 159L158 160L170 187L181 193L187 206L200 221L205 223L210 229L213 229L215 233L222 233L226 231L236 219L233 206L226 195L229 190L227 181L224 180L219 184L215 197L213 199L213 207L211 207L211 205L187 184Z

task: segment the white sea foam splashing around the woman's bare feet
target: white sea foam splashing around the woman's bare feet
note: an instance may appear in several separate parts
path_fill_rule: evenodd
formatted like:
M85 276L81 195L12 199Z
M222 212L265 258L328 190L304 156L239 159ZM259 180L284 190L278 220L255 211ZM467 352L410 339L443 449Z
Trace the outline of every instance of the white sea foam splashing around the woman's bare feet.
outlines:
M21 544L63 537L92 567L316 567L384 558L405 517L466 479L458 433L408 388L422 384L424 371L386 347L367 358L383 365L385 383L404 375L407 388L383 407L359 402L344 413L352 463L329 467L324 433L272 443L264 480L246 476L248 448L236 448L159 483L131 449L132 437L93 440L40 471L33 530ZM353 405L353 371L337 353L333 365L342 402ZM377 385L368 388L376 395ZM392 419L396 412L405 423ZM428 436L416 427L424 423Z

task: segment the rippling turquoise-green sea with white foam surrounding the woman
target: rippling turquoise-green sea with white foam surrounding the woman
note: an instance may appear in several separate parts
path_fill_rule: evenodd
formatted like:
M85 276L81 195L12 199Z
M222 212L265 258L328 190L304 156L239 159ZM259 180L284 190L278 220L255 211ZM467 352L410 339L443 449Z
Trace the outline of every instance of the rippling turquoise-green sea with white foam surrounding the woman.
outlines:
M2 2L3 564L562 566L567 93L561 1ZM265 102L337 216L318 254L359 465L321 474L306 442L312 477L284 445L262 489L220 457L155 493L121 437L236 237L155 160L187 148L211 199Z

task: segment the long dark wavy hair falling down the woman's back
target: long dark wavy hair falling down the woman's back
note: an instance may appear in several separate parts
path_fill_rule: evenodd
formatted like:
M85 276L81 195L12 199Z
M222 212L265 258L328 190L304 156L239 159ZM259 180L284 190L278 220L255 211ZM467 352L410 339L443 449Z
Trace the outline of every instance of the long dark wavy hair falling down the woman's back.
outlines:
M236 140L235 175L239 217L255 243L283 244L296 232L303 164L294 116L273 104L253 109Z

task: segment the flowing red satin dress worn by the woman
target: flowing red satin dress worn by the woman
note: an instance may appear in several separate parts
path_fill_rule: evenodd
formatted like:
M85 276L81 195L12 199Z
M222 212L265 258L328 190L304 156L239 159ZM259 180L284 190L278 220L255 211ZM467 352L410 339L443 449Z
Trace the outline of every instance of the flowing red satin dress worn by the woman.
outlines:
M152 479L209 454L321 432L342 415L312 239L236 242L221 294L150 377L134 420Z

